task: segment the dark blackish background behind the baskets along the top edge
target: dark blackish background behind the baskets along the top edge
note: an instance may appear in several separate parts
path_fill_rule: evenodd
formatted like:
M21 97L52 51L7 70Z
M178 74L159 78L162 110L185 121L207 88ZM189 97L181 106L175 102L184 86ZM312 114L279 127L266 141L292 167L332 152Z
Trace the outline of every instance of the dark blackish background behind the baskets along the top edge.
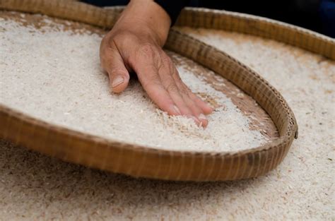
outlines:
M83 1L96 6L126 5L129 2L128 0ZM263 16L335 37L335 0L190 0L188 5Z

